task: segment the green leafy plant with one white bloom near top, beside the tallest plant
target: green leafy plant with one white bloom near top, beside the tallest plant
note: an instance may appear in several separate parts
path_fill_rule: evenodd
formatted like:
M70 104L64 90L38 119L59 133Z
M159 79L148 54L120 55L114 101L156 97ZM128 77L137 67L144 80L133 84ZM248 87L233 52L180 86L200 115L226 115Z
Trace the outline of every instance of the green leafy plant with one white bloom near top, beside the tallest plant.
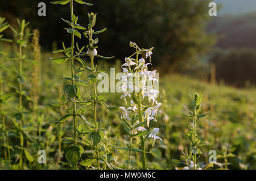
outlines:
M96 45L98 43L98 38L93 39L93 35L97 35L99 33L106 31L106 28L104 28L100 31L93 30L93 27L96 24L97 14L94 14L93 12L91 12L90 14L88 13L88 19L89 19L88 28L83 33L83 35L88 39L88 45L86 45L86 48L87 48L86 53L82 52L82 54L83 54L82 56L87 56L90 58L90 66L87 66L86 64L82 64L82 65L84 66L84 70L89 71L89 75L87 78L90 80L90 82L92 82L92 86L93 86L92 87L93 95L89 96L89 100L84 102L84 103L89 102L89 103L93 104L92 109L93 109L94 123L93 123L93 125L88 124L88 126L90 128L90 132L86 133L86 134L89 134L89 138L91 140L91 148L92 148L93 156L88 159L85 159L80 164L83 166L88 166L88 163L89 163L89 165L92 165L92 163L97 161L97 169L100 170L101 169L100 161L102 161L105 163L105 166L109 167L109 169L113 169L113 167L115 167L115 166L112 163L108 163L108 160L105 159L106 154L109 154L109 150L108 150L108 144L106 144L106 142L104 144L104 142L102 142L102 138L104 137L104 134L106 136L107 129L104 129L103 125L97 121L97 104L102 104L110 111L117 111L118 108L106 104L103 101L104 96L98 94L98 92L97 92L98 77L100 76L101 73L104 73L105 71L97 70L97 65L94 64L95 57L106 59L106 60L113 58L113 57L105 57L105 56L100 56L98 54L98 52L97 52L98 47ZM109 132L108 132L108 134L109 134ZM105 139L105 141L106 140L108 140L108 139ZM104 147L103 150L100 149L100 145L102 145ZM95 149L93 149L93 148L95 148Z

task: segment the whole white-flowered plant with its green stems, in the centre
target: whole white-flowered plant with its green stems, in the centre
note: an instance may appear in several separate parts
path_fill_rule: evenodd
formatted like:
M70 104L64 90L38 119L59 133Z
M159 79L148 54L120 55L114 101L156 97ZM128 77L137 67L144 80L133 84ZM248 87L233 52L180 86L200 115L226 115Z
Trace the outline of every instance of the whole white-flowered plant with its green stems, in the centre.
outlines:
M131 152L137 151L142 154L142 168L146 169L146 149L145 141L153 138L152 146L157 139L162 139L157 136L159 128L154 128L147 131L150 127L150 121L156 121L156 115L161 103L158 103L156 98L159 91L154 89L156 78L156 70L148 70L146 58L151 62L152 49L141 49L136 43L130 42L130 47L135 48L135 53L130 57L125 58L125 64L122 65L123 75L121 76L121 90L123 94L121 99L129 99L129 107L119 107L122 111L121 119L125 123L125 132L129 136L127 148L119 148L129 151L127 169L131 169ZM141 58L139 59L139 56ZM134 58L135 57L135 58ZM140 138L141 149L136 148L133 144L133 138Z

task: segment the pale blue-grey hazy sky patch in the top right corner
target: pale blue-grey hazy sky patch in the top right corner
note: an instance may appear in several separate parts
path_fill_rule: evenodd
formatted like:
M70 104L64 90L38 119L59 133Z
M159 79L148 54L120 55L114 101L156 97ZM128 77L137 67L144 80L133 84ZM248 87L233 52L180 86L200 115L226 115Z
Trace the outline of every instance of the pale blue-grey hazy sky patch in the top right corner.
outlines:
M223 5L218 15L237 15L256 11L256 0L212 0L212 2Z

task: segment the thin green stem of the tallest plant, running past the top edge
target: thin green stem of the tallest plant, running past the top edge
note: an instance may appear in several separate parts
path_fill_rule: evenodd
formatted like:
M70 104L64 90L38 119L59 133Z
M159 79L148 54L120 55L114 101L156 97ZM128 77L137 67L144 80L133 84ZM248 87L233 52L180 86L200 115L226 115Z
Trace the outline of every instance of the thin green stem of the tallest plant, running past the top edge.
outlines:
M70 1L70 7L71 7L71 22L72 22L72 17L74 15L73 13L73 0ZM72 24L72 28L73 28L73 24ZM73 69L73 65L74 65L74 39L75 39L75 35L72 33L71 36L71 77L73 79L72 81L72 85L75 86L75 79L74 79L74 69ZM74 127L74 140L75 140L75 145L77 145L77 134L76 134L76 128L77 128L77 123L76 123L76 103L73 102L73 127ZM75 165L76 170L77 170L77 164Z

